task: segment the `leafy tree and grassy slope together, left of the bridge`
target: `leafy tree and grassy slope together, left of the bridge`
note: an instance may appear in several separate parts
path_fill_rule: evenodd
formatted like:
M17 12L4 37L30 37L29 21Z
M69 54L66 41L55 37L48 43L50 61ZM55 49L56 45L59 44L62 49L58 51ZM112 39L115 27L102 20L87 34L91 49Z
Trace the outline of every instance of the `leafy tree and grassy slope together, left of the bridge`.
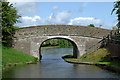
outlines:
M15 30L19 29L18 27L14 26L15 23L20 22L18 19L19 16L17 14L17 10L15 7L13 7L13 4L10 4L9 2L0 2L0 5L2 7L0 10L2 12L0 15L2 15L1 21L2 23L2 64L0 67L5 67L8 64L24 64L26 62L36 63L38 61L37 58L30 56L28 54L25 54L21 51L18 51L16 49L10 48L12 44L12 39L14 38ZM1 47L1 44L0 44ZM1 54L0 54L1 55ZM0 63L1 63L0 62Z

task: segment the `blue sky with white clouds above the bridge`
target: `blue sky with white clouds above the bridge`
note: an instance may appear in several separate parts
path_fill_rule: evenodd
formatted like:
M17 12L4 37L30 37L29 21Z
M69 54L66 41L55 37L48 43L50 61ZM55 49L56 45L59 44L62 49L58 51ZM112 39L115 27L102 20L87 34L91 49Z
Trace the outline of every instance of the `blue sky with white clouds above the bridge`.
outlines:
M114 2L12 2L21 15L19 27L38 25L81 25L112 29L117 15ZM100 26L102 25L102 26Z

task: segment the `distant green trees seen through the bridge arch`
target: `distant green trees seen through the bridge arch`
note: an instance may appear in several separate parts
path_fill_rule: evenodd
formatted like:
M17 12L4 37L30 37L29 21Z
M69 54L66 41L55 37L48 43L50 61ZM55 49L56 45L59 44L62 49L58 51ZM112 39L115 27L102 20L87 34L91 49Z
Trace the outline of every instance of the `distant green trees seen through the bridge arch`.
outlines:
M43 42L41 46L42 47L59 46L60 48L70 48L72 47L72 43L65 39L50 39L50 40Z

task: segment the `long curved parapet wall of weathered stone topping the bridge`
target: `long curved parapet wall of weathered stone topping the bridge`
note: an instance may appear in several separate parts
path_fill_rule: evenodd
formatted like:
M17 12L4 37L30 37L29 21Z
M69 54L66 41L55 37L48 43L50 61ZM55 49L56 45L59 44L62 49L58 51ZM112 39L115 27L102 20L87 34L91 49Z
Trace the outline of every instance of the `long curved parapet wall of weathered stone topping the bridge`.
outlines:
M103 38L103 36L107 36L111 31L112 30L88 26L46 25L21 28L20 30L16 31L15 37L24 38L26 36L67 35Z

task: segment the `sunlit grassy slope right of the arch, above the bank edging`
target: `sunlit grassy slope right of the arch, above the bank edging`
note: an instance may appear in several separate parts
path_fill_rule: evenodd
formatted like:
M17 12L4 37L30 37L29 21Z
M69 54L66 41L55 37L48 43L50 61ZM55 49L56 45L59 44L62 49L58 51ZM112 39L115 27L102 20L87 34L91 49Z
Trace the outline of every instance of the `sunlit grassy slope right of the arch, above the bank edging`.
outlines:
M75 62L93 62L94 64L106 64L109 66L120 67L119 60L113 60L110 57L110 52L107 48L101 48L97 51L91 53L87 57L84 57L86 54L81 56L78 59L75 58L64 58L65 61L75 61ZM68 55L67 55L68 56ZM70 55L69 55L70 56Z

